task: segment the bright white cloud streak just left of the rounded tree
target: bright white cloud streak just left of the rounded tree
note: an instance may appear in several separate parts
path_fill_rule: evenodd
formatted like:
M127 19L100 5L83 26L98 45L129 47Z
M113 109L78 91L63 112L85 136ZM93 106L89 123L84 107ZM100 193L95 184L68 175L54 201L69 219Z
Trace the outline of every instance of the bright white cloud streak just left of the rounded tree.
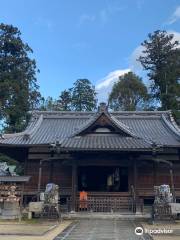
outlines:
M100 102L107 102L108 95L111 92L112 86L118 81L119 77L125 73L130 72L131 69L118 69L108 73L104 78L100 79L96 84L96 91L98 93L98 100Z

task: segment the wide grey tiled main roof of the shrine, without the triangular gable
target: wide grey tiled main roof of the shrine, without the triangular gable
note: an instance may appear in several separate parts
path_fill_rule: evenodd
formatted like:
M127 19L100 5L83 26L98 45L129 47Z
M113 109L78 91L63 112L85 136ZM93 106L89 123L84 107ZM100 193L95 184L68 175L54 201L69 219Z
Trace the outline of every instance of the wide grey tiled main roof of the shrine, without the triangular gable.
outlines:
M128 149L129 146L131 148L146 148L148 142L180 147L180 130L169 111L109 113L112 121L116 122L124 131L131 133L132 138L120 138L116 135L72 138L78 131L92 123L96 115L95 112L35 111L24 132L5 134L0 138L0 145L46 145L58 141L64 147L76 146L80 149L80 145L84 148L90 148L92 145L94 148L94 143L101 141L100 144L97 144L97 148L103 146L109 149L123 149L124 147Z

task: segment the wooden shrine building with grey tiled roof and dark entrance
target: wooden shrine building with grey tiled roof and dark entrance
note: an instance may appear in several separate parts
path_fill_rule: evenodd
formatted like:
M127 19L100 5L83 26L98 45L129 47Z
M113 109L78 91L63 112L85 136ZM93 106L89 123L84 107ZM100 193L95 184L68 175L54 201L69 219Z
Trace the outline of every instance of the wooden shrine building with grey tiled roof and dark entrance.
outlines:
M136 211L153 203L154 186L169 184L180 201L180 128L170 111L33 111L25 131L0 137L0 152L24 166L28 202L47 183L60 203L81 211Z

